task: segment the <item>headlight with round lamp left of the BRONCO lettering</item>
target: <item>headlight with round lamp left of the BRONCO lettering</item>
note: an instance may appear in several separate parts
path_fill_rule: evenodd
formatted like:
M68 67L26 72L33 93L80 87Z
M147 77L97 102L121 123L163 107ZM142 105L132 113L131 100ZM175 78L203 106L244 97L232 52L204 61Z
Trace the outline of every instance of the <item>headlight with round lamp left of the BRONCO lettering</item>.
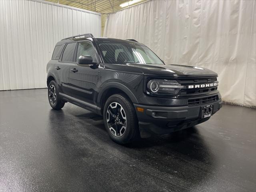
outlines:
M180 85L176 80L152 79L148 82L147 88L152 94L176 95L186 86Z

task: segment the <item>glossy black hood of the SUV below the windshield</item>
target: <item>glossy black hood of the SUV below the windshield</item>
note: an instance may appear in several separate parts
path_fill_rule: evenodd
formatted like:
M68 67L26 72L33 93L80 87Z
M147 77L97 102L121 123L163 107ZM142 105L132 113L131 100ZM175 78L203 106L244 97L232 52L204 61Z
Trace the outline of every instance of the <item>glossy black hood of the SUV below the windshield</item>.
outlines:
M105 69L146 76L166 77L205 77L217 76L209 69L185 66L185 65L161 65L161 64L105 64Z

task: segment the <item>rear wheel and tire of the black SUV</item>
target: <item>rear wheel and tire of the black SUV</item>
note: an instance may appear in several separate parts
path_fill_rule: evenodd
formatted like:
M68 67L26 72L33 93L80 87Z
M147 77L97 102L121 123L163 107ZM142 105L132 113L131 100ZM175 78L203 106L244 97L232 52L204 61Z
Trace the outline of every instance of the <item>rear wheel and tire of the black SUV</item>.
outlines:
M60 99L58 85L54 80L49 83L47 93L50 106L55 110L60 110L65 102Z

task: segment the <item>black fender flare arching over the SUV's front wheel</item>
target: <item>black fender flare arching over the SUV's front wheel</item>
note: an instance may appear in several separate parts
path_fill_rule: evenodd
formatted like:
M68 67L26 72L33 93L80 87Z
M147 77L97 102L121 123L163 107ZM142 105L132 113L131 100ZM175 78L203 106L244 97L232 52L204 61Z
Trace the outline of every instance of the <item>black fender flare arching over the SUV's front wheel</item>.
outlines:
M138 103L136 96L124 84L121 84L119 82L109 82L109 83L105 84L104 86L102 86L102 88L98 94L98 99L97 99L98 104L100 104L100 101L102 100L102 96L103 96L104 92L110 88L118 88L118 89L122 90L130 98L130 100L133 103Z

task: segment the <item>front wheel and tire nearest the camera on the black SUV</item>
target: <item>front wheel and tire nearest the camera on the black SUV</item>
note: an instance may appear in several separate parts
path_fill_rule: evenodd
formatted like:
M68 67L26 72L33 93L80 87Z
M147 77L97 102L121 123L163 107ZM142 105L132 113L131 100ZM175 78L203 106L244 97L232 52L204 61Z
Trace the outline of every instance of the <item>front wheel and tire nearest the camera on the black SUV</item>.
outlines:
M103 117L106 130L114 142L127 144L140 138L134 106L125 94L114 94L108 98Z

